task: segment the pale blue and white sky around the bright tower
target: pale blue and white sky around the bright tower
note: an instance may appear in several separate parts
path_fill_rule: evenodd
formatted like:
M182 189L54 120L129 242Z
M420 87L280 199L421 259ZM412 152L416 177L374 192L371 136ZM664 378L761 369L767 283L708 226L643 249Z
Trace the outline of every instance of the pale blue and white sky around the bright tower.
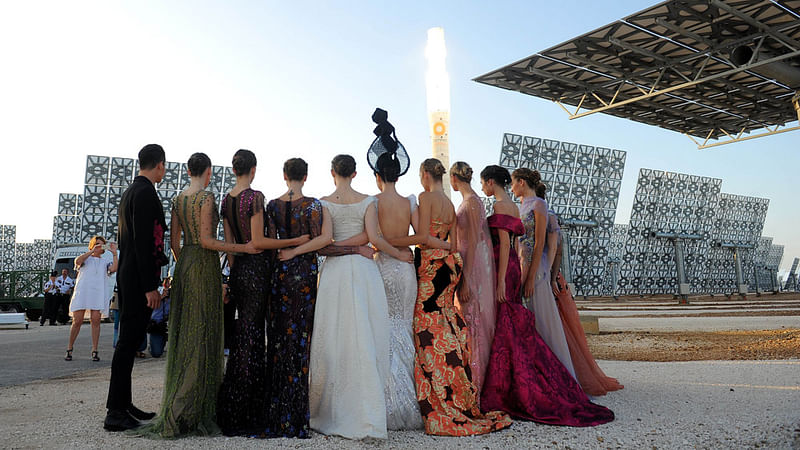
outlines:
M87 155L135 158L151 142L170 161L202 151L218 165L253 150L267 198L283 193L283 161L298 156L310 165L305 194L330 193L330 160L349 153L354 187L376 193L365 157L375 107L411 156L398 190L418 193L431 153L426 31L440 26L451 162L496 164L505 132L625 150L617 223L640 168L721 178L723 192L770 199L763 235L786 246L786 269L800 256L800 133L697 150L672 131L603 114L571 121L552 102L472 81L654 3L3 2L0 223L17 225L17 242L49 239L58 193L83 191Z

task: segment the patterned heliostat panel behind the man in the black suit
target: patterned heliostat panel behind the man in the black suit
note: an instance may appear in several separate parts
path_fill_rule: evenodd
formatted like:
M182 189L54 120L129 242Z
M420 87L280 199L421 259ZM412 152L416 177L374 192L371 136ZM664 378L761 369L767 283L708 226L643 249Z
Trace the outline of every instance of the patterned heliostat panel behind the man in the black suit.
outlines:
M116 239L119 202L122 193L139 173L139 162L132 158L89 155L83 195L59 194L58 215L53 219L53 241L56 246L66 243L87 243L94 235ZM214 193L219 206L222 196L236 183L230 167L213 166L207 189ZM156 185L167 224L170 222L172 199L189 185L186 163L166 162L164 178ZM223 236L222 224L217 227ZM165 245L169 246L169 237ZM172 255L170 257L172 267ZM167 269L164 271L166 276Z

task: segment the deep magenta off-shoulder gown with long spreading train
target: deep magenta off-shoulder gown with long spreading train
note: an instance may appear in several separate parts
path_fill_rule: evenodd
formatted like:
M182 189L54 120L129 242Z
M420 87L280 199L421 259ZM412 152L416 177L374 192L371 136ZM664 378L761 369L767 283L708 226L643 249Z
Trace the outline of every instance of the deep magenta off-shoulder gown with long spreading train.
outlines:
M505 214L489 217L495 267L499 232L525 232L522 221ZM506 269L506 301L497 307L489 366L481 392L481 410L505 411L515 419L551 425L588 427L614 420L614 413L589 401L581 386L536 331L536 318L522 305L520 265L511 249Z

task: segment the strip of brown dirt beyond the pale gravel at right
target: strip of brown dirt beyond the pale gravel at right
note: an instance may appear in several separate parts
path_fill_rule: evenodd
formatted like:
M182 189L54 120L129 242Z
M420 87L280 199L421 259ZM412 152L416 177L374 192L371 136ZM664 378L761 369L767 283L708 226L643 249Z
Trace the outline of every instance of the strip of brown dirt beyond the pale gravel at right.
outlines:
M596 359L620 361L800 358L800 329L717 332L610 332L587 335Z

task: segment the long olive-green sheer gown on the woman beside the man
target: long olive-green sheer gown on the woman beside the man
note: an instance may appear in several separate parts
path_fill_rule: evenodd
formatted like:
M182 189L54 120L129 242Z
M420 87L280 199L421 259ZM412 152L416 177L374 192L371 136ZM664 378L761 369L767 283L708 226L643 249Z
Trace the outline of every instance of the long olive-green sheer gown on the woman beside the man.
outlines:
M222 273L216 251L200 246L200 206L213 204L212 230L219 222L214 195L178 194L172 220L180 220L183 247L175 264L167 341L167 372L161 411L136 434L176 438L220 432L217 392L223 375Z

